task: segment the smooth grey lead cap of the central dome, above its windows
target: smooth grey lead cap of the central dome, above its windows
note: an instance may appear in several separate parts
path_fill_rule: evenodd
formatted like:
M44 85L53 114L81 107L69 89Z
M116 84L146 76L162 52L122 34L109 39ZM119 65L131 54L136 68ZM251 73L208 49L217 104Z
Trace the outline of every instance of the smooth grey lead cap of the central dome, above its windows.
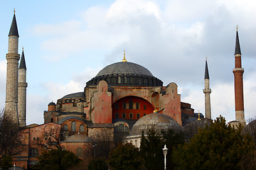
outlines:
M146 75L153 77L153 74L151 74L148 69L133 62L117 62L114 64L110 64L102 69L96 77L109 74L137 74L140 76Z

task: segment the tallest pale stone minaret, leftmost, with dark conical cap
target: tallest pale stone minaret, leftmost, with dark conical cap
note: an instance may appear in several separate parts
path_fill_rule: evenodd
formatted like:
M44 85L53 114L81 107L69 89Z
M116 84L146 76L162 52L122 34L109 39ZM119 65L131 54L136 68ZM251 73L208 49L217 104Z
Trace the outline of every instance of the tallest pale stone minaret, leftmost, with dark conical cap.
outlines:
M5 114L11 115L14 121L18 122L18 28L15 17L11 23L9 32L9 50L6 54L6 106Z

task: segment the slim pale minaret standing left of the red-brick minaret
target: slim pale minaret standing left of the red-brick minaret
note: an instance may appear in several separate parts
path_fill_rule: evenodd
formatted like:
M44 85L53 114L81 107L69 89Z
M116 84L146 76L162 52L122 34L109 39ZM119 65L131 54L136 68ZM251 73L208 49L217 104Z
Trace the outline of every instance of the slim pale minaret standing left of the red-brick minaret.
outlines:
M208 65L207 65L207 57L206 57L206 71L205 71L205 89L203 89L203 93L205 94L205 114L206 118L211 119L210 113L210 77L208 72Z

